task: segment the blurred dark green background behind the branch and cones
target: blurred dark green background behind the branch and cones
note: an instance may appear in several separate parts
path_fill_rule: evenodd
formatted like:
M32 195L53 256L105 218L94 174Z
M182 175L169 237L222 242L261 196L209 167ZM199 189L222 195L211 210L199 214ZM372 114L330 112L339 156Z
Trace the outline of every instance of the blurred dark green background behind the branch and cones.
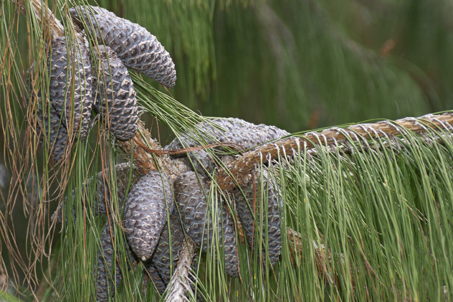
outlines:
M170 93L204 116L240 117L297 132L452 109L453 2L103 0L99 5L157 36L176 64L178 80ZM26 30L23 17L18 28ZM27 37L17 39L25 74ZM151 125L151 117L142 119ZM159 130L165 144L171 133ZM5 138L0 140L6 146ZM4 202L10 175L0 162ZM26 232L20 234L17 244L25 249ZM5 250L2 256L9 257Z

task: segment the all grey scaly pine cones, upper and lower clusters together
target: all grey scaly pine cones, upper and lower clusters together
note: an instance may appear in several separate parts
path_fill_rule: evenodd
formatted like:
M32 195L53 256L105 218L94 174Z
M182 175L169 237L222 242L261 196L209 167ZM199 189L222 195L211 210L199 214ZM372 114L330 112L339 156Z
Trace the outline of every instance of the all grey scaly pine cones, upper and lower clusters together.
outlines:
M176 82L175 65L169 53L143 27L99 7L74 7L69 12L85 34L81 30L75 39L56 37L51 41L52 51L47 58L49 100L40 100L37 109L38 126L42 129L38 129L40 142L49 145L57 162L67 154L68 142L87 135L92 109L117 139L127 140L135 134L139 119L137 101L127 68L142 72L168 88ZM94 46L91 53L88 41ZM276 127L254 125L236 118L203 122L196 125L196 131L203 132L207 144L233 143L242 149L288 134ZM193 134L183 133L166 149L196 146L191 139ZM226 163L232 157L224 155L220 159ZM164 171L142 176L134 169L132 189L127 197L130 166L116 167L117 196L119 206L124 207L122 226L128 244L126 250L131 261L143 263L158 291L165 291L186 235L204 252L214 241L220 241L226 272L232 277L239 276L235 215L231 209L236 209L252 250L262 251L262 257L272 265L278 260L281 249L278 186L265 167L251 173L247 185L234 192L220 192L220 196L231 198L220 197L221 201L212 205L208 204L208 196L216 189L210 185L209 175L219 162L206 150L189 152L187 159L171 161L183 163L184 168L176 176ZM110 190L102 175L85 185L97 187L96 214L109 212L110 200L106 198L110 199ZM267 206L263 209L263 205ZM60 222L64 217L63 207L64 203L53 217ZM112 223L115 222L107 221L100 236L96 272L98 301L109 299L122 280L122 270L129 269L119 267L115 259ZM257 238L257 234L263 238ZM262 246L265 241L267 249ZM115 276L112 276L114 267Z

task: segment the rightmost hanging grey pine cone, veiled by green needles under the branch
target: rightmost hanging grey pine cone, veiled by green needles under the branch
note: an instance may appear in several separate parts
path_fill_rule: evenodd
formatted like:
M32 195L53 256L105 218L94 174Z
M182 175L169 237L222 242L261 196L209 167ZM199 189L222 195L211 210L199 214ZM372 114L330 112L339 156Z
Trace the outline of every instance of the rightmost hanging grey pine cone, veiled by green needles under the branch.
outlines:
M278 199L274 185L270 183L267 173L263 171L262 177L263 187L261 188L261 180L259 173L255 173L255 182L252 180L249 184L242 187L243 193L239 189L235 189L236 211L241 219L244 231L247 236L247 241L253 251L258 250L256 245L256 236L259 233L262 236L263 242L266 241L266 232L268 233L269 251L263 251L263 256L269 256L272 265L277 262L281 252L281 229L280 229L280 214L279 206L281 202ZM263 194L261 191L264 190ZM245 198L244 198L245 196ZM262 200L261 196L267 197L267 201ZM266 206L267 208L262 208ZM261 216L263 213L264 216ZM255 217L255 219L254 219ZM262 225L262 231L258 232L259 226ZM259 241L261 242L261 240ZM263 247L264 249L264 247Z

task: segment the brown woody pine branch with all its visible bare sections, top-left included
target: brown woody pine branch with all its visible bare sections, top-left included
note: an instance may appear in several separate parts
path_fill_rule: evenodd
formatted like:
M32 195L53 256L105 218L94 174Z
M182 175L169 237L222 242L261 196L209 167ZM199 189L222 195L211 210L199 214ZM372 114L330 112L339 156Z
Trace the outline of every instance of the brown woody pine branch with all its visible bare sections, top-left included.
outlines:
M13 3L20 9L23 14L26 14L25 0L12 0ZM44 31L48 29L48 34L51 37L64 35L64 28L61 23L55 18L51 11L46 8L39 0L31 0L36 18L41 24L45 24ZM418 119L405 118L397 121L382 121L372 124L357 124L347 128L330 128L321 132L309 132L301 137L289 137L272 144L264 145L246 155L240 157L233 163L227 166L227 169L221 170L217 174L217 181L223 190L231 190L236 181L231 181L233 178L239 184L243 184L243 180L247 179L247 175L255 169L262 161L276 160L279 156L292 154L293 151L299 152L301 149L310 149L315 145L334 145L348 144L350 142L362 142L367 139L379 139L380 137L393 136L401 134L405 131L414 133L426 133L428 131L448 130L452 132L451 125L453 124L453 113L443 115L425 115ZM133 143L132 143L133 141ZM159 144L155 142L150 133L140 123L139 131L137 131L133 140L118 141L119 145L124 149L125 153L132 155L134 164L139 167L142 174L146 174L152 170L164 169L171 177L178 175L174 169L174 164L168 156L159 153L150 154L143 146L151 149L160 149ZM132 146L133 144L133 146ZM287 229L290 246L294 251L293 257L301 257L301 250L306 247L301 246L301 235L291 229ZM241 236L241 235L240 235ZM241 237L243 237L242 235ZM313 243L316 251L316 262L320 274L326 276L329 282L334 282L326 270L326 263L330 261L330 251L322 246ZM194 254L194 244L189 241L183 247L180 254L180 260L177 269L173 275L171 286L172 290L168 293L166 300L183 300L185 292L191 290L188 286L190 280L188 278L189 268L191 266L192 257ZM294 260L294 259L293 259ZM350 269L352 272L353 269ZM351 279L353 276L351 275ZM353 280L353 279L352 279Z

